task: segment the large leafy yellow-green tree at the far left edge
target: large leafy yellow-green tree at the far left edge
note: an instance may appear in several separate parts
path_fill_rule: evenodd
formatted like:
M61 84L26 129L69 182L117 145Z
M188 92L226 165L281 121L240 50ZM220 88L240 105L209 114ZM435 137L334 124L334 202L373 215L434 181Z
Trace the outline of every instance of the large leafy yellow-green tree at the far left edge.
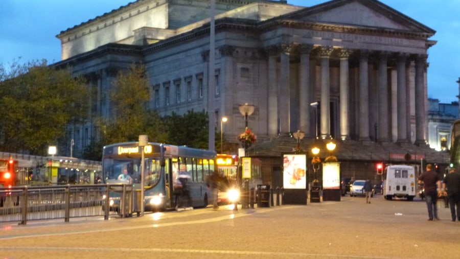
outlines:
M46 60L0 69L0 146L9 152L46 155L65 136L66 126L87 115L88 90L70 68L56 69Z

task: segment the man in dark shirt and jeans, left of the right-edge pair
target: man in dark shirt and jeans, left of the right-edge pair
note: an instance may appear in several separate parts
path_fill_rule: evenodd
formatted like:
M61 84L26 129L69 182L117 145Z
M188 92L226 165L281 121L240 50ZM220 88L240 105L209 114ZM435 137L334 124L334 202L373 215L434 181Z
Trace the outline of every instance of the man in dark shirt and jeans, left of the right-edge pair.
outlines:
M426 171L419 176L419 184L423 182L425 201L428 207L428 220L439 220L438 197L441 197L441 178L438 173L431 170L431 164L426 165Z

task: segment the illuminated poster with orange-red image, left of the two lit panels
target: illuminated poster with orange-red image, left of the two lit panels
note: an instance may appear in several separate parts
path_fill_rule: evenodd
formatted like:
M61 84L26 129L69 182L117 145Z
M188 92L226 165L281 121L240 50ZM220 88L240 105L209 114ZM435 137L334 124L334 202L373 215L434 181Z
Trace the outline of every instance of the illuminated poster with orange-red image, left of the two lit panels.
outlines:
M283 155L284 189L307 189L307 155Z

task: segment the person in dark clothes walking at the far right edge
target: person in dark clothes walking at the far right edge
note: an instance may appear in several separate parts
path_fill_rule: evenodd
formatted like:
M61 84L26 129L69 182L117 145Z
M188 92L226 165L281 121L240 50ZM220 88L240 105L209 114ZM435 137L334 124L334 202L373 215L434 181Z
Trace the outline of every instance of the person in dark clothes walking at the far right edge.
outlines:
M452 221L455 219L460 221L460 173L458 170L455 172L454 168L450 168L449 173L444 177L443 190L444 196L449 200ZM457 215L455 215L455 206L457 206Z

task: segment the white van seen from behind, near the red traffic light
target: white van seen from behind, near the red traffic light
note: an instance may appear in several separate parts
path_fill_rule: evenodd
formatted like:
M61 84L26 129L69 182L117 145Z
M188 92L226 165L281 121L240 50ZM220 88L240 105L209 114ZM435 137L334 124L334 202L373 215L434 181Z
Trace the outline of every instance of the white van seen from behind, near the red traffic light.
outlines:
M413 200L416 196L415 168L396 164L387 166L383 172L383 197L392 200L393 197Z

